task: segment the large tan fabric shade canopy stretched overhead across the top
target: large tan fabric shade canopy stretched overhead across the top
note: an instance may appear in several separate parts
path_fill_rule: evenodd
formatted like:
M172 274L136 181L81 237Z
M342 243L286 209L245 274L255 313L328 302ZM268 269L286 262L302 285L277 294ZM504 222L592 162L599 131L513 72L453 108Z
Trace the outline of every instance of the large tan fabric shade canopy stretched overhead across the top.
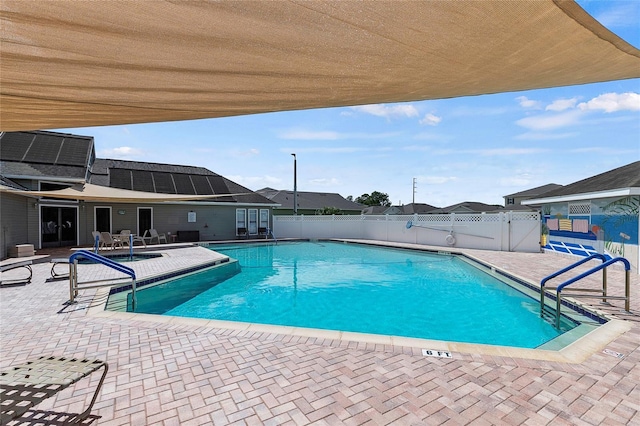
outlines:
M2 0L0 10L3 131L640 77L640 50L565 0Z

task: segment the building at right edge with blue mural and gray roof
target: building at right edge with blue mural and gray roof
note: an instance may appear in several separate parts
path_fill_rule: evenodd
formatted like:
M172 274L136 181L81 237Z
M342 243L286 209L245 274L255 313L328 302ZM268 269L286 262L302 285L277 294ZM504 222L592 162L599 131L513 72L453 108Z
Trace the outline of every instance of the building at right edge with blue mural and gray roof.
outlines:
M640 161L522 202L540 205L545 251L624 257L638 270Z

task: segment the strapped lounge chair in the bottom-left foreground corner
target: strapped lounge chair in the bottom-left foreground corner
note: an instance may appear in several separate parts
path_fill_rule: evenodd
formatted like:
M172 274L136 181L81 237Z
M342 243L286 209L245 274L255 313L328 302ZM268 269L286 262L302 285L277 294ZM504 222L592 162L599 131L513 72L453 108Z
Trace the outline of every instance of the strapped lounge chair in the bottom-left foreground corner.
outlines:
M73 418L78 423L91 414L109 366L97 359L41 356L0 372L0 424L17 419L29 409L104 367L89 407Z

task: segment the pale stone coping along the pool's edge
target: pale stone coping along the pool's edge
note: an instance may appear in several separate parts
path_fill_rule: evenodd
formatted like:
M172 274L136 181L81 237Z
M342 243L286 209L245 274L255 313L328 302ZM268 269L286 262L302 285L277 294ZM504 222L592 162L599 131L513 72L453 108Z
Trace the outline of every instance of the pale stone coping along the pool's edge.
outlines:
M427 246L404 244L404 243L387 243L387 242L377 242L377 241L369 241L369 240L348 240L348 239L323 239L323 240L377 245L377 246L393 247L393 248L418 249L421 251L430 251L430 252L436 252L436 253L446 252L450 254L467 257L475 262L480 263L481 265L485 265L491 268L491 270L495 269L497 271L502 271L501 268L498 268L485 260L477 259L475 256L472 256L469 253L464 253L462 251L451 249L451 248L447 248L447 250L442 250L442 249L437 250L437 249L430 249ZM260 243L260 241L257 241L257 242ZM212 244L212 245L215 245L215 244ZM210 264L209 265L203 264L201 269L206 269L207 267L210 267L210 266L211 266ZM196 267L195 269L197 270L198 268ZM194 272L193 269L192 269L192 272ZM535 286L533 283L530 283L529 280L523 277L518 277L516 274L513 274L511 272L502 271L502 273L504 273L509 278L511 277L516 278L516 281L522 281L525 283L529 283L529 285ZM154 280L160 280L160 277L154 277ZM186 317L167 316L167 315L107 311L105 309L106 309L106 304L108 301L110 290L111 288L104 287L96 291L93 297L93 301L90 303L90 306L88 308L88 312L87 312L88 315L95 316L95 317L109 318L113 320L143 321L143 322L157 323L157 324L193 326L193 327L197 327L199 331L210 331L212 333L215 333L216 331L219 331L219 330L234 330L234 331L244 331L244 332L250 332L250 333L264 333L265 335L279 334L279 335L286 335L286 336L302 336L302 337L310 337L310 338L316 338L316 339L327 339L327 340L339 341L339 342L358 342L358 343L371 343L375 345L389 345L392 347L420 348L423 350L445 351L451 354L453 358L456 358L455 356L456 353L460 353L460 354L469 354L469 355L474 355L474 354L490 355L490 356L522 358L522 359L538 360L538 361L554 361L554 362L561 362L561 363L579 364L585 361L594 353L603 350L609 343L611 343L620 335L629 331L632 328L631 324L628 321L613 318L604 312L599 312L596 309L593 309L592 307L585 306L577 300L571 300L572 304L581 306L583 309L589 312L595 313L595 315L606 318L607 322L604 324L600 324L594 330L577 338L575 341L564 346L562 349L559 349L559 350L527 349L527 348L518 348L518 347L510 347L510 346L449 342L449 341L443 341L443 340L430 340L430 339L420 339L420 338L411 338L411 337L402 337L402 336L367 334L367 333L357 333L357 332L339 331L339 330L324 330L324 329L279 326L279 325L268 325L268 324L247 323L247 322L235 322L235 321L225 321L225 320L210 320L210 319L186 318Z

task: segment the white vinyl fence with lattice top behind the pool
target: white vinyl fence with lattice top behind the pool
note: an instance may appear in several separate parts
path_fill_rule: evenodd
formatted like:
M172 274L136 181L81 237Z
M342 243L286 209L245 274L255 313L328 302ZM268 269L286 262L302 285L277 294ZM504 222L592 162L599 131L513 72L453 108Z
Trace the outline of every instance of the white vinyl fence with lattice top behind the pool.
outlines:
M353 238L442 247L539 252L537 212L273 216L276 238Z

